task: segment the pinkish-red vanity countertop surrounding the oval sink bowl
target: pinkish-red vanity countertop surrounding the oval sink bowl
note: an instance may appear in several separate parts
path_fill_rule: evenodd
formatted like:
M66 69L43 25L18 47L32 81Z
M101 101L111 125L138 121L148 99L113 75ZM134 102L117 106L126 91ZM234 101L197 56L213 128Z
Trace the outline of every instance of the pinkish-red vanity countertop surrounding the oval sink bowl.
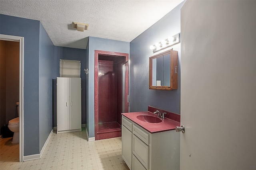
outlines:
M153 114L150 111L140 111L140 112L130 112L130 113L122 113L125 117L133 121L134 123L140 125L145 130L149 131L150 133L157 133L163 131L170 131L174 130L176 126L180 126L180 122L173 121L171 119L165 118L162 119L160 123L148 123L137 119L138 115L150 115L157 117L156 114Z

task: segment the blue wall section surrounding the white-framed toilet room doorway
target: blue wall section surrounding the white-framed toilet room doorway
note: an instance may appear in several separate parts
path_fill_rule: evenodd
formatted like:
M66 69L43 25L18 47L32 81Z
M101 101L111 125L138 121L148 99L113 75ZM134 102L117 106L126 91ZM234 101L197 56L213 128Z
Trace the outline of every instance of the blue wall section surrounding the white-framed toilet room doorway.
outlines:
M0 33L24 37L24 156L39 150L40 22L0 15Z

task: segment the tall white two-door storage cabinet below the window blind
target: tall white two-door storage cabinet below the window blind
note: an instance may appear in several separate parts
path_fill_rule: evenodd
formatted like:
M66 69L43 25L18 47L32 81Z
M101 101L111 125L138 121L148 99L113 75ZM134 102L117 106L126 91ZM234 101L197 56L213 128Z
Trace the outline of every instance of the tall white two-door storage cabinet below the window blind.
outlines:
M81 78L57 77L57 133L81 131Z

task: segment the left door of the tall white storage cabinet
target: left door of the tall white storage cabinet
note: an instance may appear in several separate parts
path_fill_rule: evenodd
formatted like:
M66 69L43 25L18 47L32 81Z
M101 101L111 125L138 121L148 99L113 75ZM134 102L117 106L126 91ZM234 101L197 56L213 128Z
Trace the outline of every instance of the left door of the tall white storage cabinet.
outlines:
M57 131L69 130L69 78L57 78Z

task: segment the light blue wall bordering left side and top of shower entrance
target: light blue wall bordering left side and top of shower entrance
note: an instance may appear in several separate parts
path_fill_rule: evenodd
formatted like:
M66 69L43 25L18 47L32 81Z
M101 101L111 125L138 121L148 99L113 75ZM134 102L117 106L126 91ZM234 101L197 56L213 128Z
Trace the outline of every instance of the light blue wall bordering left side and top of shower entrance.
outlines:
M102 39L96 37L89 37L88 42L88 89L86 89L86 95L88 95L88 110L86 110L86 127L89 137L94 137L94 51L112 51L118 53L130 53L130 43L124 41L115 41L110 39Z

